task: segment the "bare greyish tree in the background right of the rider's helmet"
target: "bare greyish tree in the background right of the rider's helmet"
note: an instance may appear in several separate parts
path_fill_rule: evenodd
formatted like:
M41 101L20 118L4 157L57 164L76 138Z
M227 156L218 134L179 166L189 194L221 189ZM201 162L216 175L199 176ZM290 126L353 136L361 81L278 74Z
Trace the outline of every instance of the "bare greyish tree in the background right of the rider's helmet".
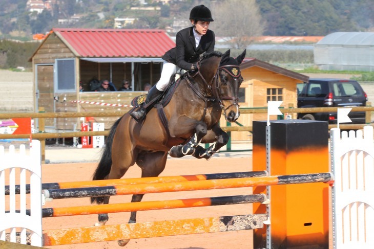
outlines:
M255 0L217 1L212 15L216 36L230 37L237 49L245 49L265 29Z

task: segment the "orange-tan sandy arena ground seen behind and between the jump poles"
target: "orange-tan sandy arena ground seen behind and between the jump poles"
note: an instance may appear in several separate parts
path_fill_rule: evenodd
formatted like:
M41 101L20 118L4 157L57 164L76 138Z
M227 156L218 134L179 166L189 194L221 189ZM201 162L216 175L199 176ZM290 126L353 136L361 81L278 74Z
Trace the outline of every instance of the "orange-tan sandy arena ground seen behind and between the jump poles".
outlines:
M68 182L75 180L90 180L96 168L95 163L84 164L46 164L43 165L43 183ZM252 170L252 157L213 158L210 161L196 159L172 159L161 175L205 174L219 172L239 172ZM140 168L133 166L126 178L139 177ZM143 200L167 200L179 198L211 197L224 195L251 194L252 188L237 188L224 190L185 191L162 194L146 194ZM112 196L110 203L130 202L131 196ZM89 198L61 199L47 202L49 207L72 207L90 205ZM184 208L170 210L155 210L138 212L137 222L158 220L174 220L185 218L218 217L226 215L252 214L251 204L227 205L201 208ZM109 214L107 224L127 223L130 213ZM97 215L81 215L68 217L52 217L43 219L43 230L90 227L97 221ZM252 231L233 231L197 235L182 235L171 237L134 239L124 248L149 249L226 249L252 248ZM109 249L122 248L117 241L95 242L74 245L49 246L55 249Z

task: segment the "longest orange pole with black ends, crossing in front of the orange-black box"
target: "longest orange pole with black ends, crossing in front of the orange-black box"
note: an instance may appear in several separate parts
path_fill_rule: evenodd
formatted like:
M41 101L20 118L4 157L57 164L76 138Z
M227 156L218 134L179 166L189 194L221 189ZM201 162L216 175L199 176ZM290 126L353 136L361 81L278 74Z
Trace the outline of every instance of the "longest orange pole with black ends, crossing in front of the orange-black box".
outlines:
M191 182L120 185L97 188L43 190L46 198L65 199L127 194L149 194L190 190L228 189L254 186L271 186L300 183L325 183L333 180L331 173L245 177L217 180L193 180Z

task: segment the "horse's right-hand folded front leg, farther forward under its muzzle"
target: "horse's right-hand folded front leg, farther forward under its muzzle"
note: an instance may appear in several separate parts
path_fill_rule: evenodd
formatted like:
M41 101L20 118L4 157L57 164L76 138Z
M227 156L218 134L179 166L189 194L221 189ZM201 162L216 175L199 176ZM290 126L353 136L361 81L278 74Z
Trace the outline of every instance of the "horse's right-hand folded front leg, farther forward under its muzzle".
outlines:
M226 132L224 132L221 127L216 124L213 126L212 130L208 131L205 137L202 139L202 143L213 143L209 148L205 149L198 146L193 154L197 159L209 160L212 156L219 151L220 148L225 146L230 137Z

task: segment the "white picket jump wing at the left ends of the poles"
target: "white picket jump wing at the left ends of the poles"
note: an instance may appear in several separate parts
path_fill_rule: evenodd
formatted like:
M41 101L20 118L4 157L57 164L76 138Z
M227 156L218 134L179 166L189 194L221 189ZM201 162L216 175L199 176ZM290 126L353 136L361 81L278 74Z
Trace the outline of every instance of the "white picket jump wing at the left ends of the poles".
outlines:
M20 145L19 151L10 145L7 153L4 146L0 146L0 240L6 240L6 234L9 233L9 240L16 242L16 233L19 232L20 243L26 244L30 239L31 245L43 246L40 142L33 140L31 145L29 155L25 145ZM16 175L18 172L19 176ZM4 191L8 185L6 180L9 182L9 195L5 195ZM26 194L27 182L31 185L29 196ZM15 194L16 184L20 186L19 198ZM30 215L26 214L27 207L31 211Z

